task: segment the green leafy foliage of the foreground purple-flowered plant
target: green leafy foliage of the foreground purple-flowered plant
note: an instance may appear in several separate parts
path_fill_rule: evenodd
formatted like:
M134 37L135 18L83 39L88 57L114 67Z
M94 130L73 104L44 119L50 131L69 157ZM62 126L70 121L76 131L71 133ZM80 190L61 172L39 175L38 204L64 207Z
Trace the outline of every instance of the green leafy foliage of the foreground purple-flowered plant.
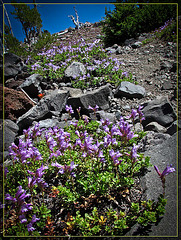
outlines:
M61 230L59 229L59 231L66 235L123 235L124 231L136 222L145 227L157 222L159 217L164 214L166 199L164 199L163 195L159 196L158 201L138 200L130 202L129 207L127 206L127 212L118 211L117 208L112 209L111 206L114 206L114 204L120 207L122 199L134 189L135 177L141 173L143 168L147 169L150 167L150 159L144 157L143 154L138 154L137 160L132 162L130 159L130 148L132 148L134 142L129 141L126 145L122 144L123 140L119 135L115 136L118 142L117 145L101 148L106 161L101 162L97 154L93 156L90 153L83 156L81 147L75 144L78 140L78 132L80 138L82 138L87 131L87 134L91 136L89 140L92 143L97 144L97 141L101 143L104 141L103 139L107 133L104 130L100 130L99 125L100 123L97 121L89 122L80 118L76 124L66 126L66 136L70 138L72 147L68 147L62 155L52 158L49 158L51 151L47 142L40 135L33 142L34 146L41 153L42 159L34 161L29 158L28 165L17 161L16 164L8 167L9 172L5 181L5 191L11 196L15 196L18 185L29 191L27 187L28 174L35 172L42 164L48 166L48 169L44 170L46 182L53 179L54 184L50 184L43 191L37 184L34 186L33 191L30 191L31 199L29 201L31 201L33 209L27 213L26 217L28 221L31 220L31 215L33 214L40 218L36 223L37 231L33 232L34 236L38 236L40 233L42 235L47 228L47 221L49 223L55 221L52 210L49 209L44 201L45 197L47 199L47 196L50 206L53 206L53 202L58 204L55 206L61 206L63 213L60 216L64 227ZM112 127L113 124L110 124L109 128L112 129ZM97 134L98 128L99 134ZM62 131L62 129L59 130ZM52 136L56 140L55 132L58 129L49 129L49 131L52 132ZM140 132L137 138L142 138L143 136L144 132ZM68 141L68 138L66 138L66 141ZM136 139L135 142L137 142ZM119 150L122 153L121 158L119 158L122 161L119 165L115 165L110 158L109 151L112 148L114 151ZM53 151L56 152L56 150L57 147L54 147ZM54 164L52 165L52 163L57 162L61 166L70 166L72 161L76 164L74 175L71 175L70 172L58 172L59 169L53 166ZM5 212L7 219L5 228L8 236L13 234L17 236L30 235L26 224L20 224L16 215L17 212L11 205L7 204ZM11 219L11 222L8 219ZM50 221L50 219L52 220ZM10 223L12 225L11 228Z

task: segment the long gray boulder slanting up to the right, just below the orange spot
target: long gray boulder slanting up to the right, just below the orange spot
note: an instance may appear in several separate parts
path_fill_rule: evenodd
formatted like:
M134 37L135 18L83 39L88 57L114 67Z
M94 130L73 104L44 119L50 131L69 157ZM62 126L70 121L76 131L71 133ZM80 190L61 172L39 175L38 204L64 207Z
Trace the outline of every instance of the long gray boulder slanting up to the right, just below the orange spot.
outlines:
M61 113L66 105L68 96L69 92L61 90L54 90L44 96L36 106L18 118L17 124L20 131L31 126L33 121L51 118L54 112Z

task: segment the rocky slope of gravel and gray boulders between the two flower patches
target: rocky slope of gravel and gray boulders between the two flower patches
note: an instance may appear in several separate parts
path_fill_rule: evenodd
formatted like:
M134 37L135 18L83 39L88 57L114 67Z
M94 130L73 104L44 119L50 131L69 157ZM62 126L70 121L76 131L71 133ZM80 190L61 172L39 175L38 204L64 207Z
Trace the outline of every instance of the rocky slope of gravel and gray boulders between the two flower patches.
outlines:
M69 29L58 36L57 41L60 43L80 37L93 42L101 38L101 28L98 24L91 24L80 30ZM109 118L112 122L118 120L121 115L128 116L131 109L138 108L139 105L144 106L143 127L149 132L140 143L139 150L149 151L152 157L155 146L161 146L166 140L169 142L171 136L176 133L175 121L177 114L180 117L181 113L177 112L177 90L180 89L177 81L177 46L175 43L164 43L159 40L141 45L140 41L148 37L149 34L142 34L138 39L127 40L123 46L114 45L105 49L110 56L122 62L121 69L132 73L133 79L137 82L137 85L124 83L124 86L120 85L117 89L107 84L82 92L80 89L73 89L70 83L58 81L50 82L47 86L40 76L30 76L23 61L13 56L11 60L14 60L6 64L7 71L5 71L5 142L7 143L4 148L5 157L10 143L22 134L24 128L36 122L40 123L41 128L63 127L64 119L68 117L64 110L66 104L72 105L74 109L81 106L82 114L92 119L94 116L88 106L99 105L97 118ZM38 99L37 95L43 87L45 96ZM12 124L10 120L13 121ZM180 126L178 127L180 129ZM136 126L136 130L139 131L139 125ZM175 138L174 144L176 144ZM2 149L1 145L1 152ZM175 155L173 159L165 158L161 165L165 163L176 164ZM173 178L173 182L176 182L176 176ZM173 218L169 219L169 214L167 218L167 222L176 221ZM174 231L170 235L174 235Z

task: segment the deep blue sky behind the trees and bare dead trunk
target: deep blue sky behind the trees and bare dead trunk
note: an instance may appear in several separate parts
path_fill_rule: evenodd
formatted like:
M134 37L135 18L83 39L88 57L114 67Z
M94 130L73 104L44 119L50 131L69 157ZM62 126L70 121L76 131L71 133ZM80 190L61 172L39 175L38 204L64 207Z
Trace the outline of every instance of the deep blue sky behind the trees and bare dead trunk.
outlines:
M14 10L13 6L11 6L10 4L6 4L6 3L10 3L10 1L4 0L3 2L8 12L15 37L20 41L24 41L25 35L23 34L23 31L22 31L22 25L10 13ZM32 3L33 0L17 1L17 2ZM60 0L52 1L51 4L48 4L48 2L50 1L46 1L46 0L36 1L36 3L39 3L38 11L42 19L42 24L43 24L42 29L48 30L51 34L65 30L68 27L75 27L71 18L68 17L68 15L75 16L75 11L73 9L74 6L77 9L77 12L79 15L79 21L83 23L85 23L86 21L94 23L102 20L103 17L105 16L105 7L107 7L108 10L114 9L114 5L109 4L111 3L111 1L102 1L102 2L89 1L89 3L91 4L88 4L88 2L86 2L85 0L74 1L75 3L73 3L73 1L72 3L71 1L69 1L71 4L67 4L68 1L66 1L66 4L61 4ZM33 7L33 4L30 6ZM6 18L5 18L5 23L7 23Z

